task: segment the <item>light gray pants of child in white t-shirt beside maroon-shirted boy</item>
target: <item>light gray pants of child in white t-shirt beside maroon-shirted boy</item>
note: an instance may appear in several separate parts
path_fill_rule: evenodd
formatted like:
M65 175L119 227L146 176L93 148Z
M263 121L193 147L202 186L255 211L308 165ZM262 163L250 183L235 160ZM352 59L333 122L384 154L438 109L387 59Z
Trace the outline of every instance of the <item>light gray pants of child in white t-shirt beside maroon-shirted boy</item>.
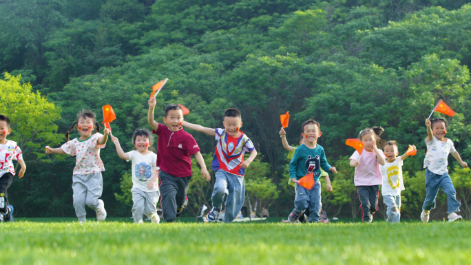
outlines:
M157 202L159 193L158 191L147 192L138 188L132 188L132 216L134 217L134 223L142 222L143 213L150 218L152 215L157 213Z

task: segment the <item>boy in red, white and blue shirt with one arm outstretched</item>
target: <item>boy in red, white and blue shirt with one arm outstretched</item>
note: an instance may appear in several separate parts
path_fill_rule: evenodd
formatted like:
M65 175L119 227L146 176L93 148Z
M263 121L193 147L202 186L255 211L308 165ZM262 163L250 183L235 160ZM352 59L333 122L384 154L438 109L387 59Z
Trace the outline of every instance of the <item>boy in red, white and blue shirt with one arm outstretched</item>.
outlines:
M232 222L242 209L245 199L245 169L257 156L257 151L253 147L249 137L240 131L242 127L242 116L238 109L226 109L224 111L224 129L206 128L201 125L194 125L183 122L183 126L200 131L209 136L216 136L218 145L214 151L213 171L216 172L216 183L214 183L211 202L213 209L209 211L207 219L209 222L216 222L218 214L224 202L224 195L227 196L224 208L223 222ZM250 156L244 160L244 153L249 152Z

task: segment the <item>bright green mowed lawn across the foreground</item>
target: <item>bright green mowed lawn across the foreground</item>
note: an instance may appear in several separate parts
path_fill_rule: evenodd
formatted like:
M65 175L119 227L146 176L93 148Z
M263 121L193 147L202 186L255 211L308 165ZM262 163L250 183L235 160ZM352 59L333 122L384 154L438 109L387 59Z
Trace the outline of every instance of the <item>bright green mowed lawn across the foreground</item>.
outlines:
M1 264L470 264L471 222L0 224Z

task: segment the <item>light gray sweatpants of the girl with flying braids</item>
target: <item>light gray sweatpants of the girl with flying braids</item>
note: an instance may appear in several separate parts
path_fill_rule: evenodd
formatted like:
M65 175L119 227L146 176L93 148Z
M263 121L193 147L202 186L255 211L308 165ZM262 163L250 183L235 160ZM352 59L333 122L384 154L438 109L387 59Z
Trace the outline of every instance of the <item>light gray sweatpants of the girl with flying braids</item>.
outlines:
M72 191L74 191L75 214L79 221L85 222L85 205L98 209L98 198L103 193L103 178L101 172L88 175L74 175L72 177Z

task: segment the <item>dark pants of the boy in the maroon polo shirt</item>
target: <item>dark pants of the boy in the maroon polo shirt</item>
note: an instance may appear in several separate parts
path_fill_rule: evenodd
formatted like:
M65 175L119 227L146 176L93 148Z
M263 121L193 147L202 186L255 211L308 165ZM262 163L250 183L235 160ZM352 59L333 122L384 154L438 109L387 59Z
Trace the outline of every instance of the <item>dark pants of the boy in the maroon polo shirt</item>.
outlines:
M160 177L160 194L162 195L163 219L173 222L176 219L176 209L181 208L187 197L191 176L178 178L168 173L158 171Z

